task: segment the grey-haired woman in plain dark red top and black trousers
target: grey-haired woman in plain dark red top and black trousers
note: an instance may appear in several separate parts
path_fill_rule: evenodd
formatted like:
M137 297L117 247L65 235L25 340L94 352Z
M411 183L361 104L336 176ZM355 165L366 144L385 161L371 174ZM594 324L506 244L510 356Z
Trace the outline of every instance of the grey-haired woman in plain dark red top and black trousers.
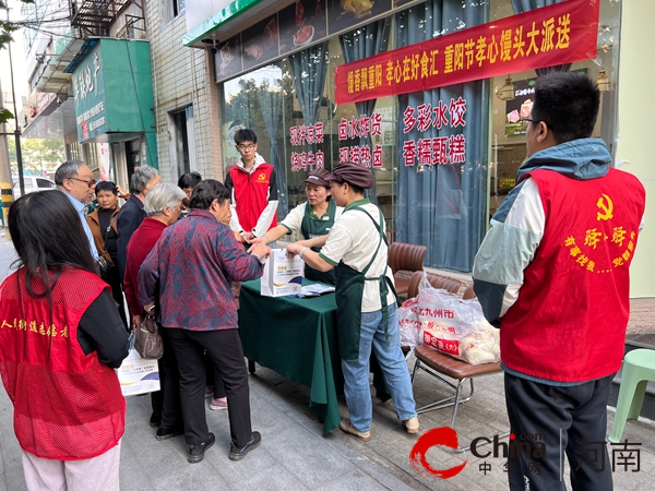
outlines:
M123 287L132 325L138 328L141 324L143 306L139 303L136 288L139 285L139 270L146 255L155 247L166 227L172 225L180 217L184 192L175 184L156 184L145 197L145 213L147 217L132 235L128 244L128 264ZM151 424L158 426L156 439L167 440L177 434L182 434L181 415L179 408L179 375L168 336L160 330L164 339L164 356L159 358L159 383L162 390L151 393L153 415Z

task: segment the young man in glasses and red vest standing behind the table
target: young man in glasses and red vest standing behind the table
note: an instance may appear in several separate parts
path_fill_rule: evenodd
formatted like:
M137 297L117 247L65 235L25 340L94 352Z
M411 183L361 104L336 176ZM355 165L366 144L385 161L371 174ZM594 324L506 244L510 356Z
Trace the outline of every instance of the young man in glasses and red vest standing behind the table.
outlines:
M235 143L241 159L225 177L231 202L230 228L242 239L252 240L277 225L275 169L257 153L254 131L237 131Z

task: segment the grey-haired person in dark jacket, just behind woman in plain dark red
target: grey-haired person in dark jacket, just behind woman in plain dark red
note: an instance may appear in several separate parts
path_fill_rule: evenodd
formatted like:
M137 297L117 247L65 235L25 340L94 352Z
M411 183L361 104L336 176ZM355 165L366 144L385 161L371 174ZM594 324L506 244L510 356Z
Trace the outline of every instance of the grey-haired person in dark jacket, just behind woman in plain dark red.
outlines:
M132 233L139 228L145 218L145 196L153 185L162 182L157 169L150 166L139 167L130 179L130 192L132 195L123 207L118 212L118 277L122 284L126 276L126 264L128 263L127 248Z

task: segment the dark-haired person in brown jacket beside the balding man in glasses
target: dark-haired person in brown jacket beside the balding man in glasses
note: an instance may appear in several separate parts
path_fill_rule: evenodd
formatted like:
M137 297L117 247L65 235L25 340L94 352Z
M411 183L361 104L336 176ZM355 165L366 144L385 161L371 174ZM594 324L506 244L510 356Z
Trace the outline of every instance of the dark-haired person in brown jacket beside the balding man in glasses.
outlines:
M104 258L109 266L100 277L111 287L111 295L118 307L118 313L122 320L126 330L128 328L128 319L126 316L126 307L122 291L120 289L120 278L118 277L118 227L116 217L120 211L118 199L124 197L124 192L119 185L111 181L99 181L95 187L98 207L86 217L88 228L93 235L93 241L100 258Z

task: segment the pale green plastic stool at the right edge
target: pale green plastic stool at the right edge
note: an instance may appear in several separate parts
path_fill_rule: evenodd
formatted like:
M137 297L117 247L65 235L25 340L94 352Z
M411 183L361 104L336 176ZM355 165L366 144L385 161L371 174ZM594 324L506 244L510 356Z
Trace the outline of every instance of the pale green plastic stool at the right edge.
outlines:
M617 414L607 439L611 443L621 441L627 419L639 418L648 381L655 381L655 350L633 349L623 359Z

